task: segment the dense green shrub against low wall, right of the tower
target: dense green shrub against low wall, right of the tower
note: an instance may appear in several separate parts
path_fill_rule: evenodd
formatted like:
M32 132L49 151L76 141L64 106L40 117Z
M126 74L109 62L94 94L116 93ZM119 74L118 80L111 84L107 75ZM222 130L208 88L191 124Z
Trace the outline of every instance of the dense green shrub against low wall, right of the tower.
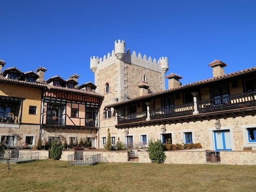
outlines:
M166 159L166 154L164 154L163 144L160 140L153 142L152 140L148 144L148 155L151 162L157 162L161 164Z

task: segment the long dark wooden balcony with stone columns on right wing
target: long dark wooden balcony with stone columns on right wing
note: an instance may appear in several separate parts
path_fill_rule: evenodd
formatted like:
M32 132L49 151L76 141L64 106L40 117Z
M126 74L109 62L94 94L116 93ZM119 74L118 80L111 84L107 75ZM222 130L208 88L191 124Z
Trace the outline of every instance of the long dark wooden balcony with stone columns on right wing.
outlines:
M150 122L156 122L157 120L163 119L182 119L188 117L200 117L201 115L207 114L220 114L221 112L232 112L232 111L245 111L246 109L256 107L256 91L244 94L236 94L233 96L209 99L206 101L198 101L198 112L199 114L193 115L194 103L182 104L171 107L164 107L160 109L150 110ZM147 119L147 111L136 112L133 114L120 115L118 117L118 124L129 124L129 123L142 123L145 124Z

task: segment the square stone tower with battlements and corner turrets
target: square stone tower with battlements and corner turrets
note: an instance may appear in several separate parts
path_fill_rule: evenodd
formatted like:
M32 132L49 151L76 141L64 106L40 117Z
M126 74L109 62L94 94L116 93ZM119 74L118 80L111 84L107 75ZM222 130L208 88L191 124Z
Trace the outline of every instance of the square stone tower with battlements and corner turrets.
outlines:
M168 58L160 57L158 61L135 51L126 51L126 42L114 42L114 50L103 57L92 56L90 69L95 74L96 92L104 95L100 108L100 127L98 130L98 146L103 148L101 138L108 135L108 128L116 139L124 139L114 125L116 123L114 109L105 106L114 102L136 98L143 94L164 90L164 74L168 70ZM121 113L121 112L118 112Z

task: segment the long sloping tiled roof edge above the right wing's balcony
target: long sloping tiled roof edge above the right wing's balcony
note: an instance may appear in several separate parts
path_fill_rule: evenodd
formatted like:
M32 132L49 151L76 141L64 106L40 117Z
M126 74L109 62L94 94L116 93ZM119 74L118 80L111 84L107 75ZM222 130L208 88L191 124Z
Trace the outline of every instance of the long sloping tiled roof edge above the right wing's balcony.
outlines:
M119 106L119 105L125 104L127 102L137 101L137 100L145 99L145 98L151 98L153 96L158 96L158 95L161 95L164 93L171 93L172 91L183 90L185 88L189 88L192 86L203 85L203 84L211 83L211 82L218 81L218 80L224 80L226 78L236 77L236 76L243 75L245 73L254 72L254 71L256 71L256 67L251 67L249 69L244 69L244 70L240 70L237 72L224 74L220 77L212 77L212 78L207 78L205 80L195 81L194 83L188 83L186 85L182 85L177 88L173 88L173 89L169 89L169 90L162 90L162 91L158 91L156 93L145 94L143 96L139 96L137 98L132 98L127 101L115 102L114 104L109 104L108 106L105 106L105 107L109 108L109 107Z

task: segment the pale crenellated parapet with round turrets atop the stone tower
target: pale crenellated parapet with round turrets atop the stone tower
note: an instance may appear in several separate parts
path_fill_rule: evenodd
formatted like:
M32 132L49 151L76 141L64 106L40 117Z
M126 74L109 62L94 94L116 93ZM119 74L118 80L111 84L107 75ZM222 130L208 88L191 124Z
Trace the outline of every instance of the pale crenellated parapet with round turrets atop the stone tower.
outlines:
M116 40L114 42L114 50L111 53L100 58L92 56L90 58L90 69L95 73L97 69L108 67L116 62L116 60L123 61L127 64L139 65L161 73L166 73L169 69L168 57L160 57L160 59L156 61L155 58L152 59L146 55L142 56L140 52L138 55L135 51L131 54L129 49L126 52L126 42L124 40Z

